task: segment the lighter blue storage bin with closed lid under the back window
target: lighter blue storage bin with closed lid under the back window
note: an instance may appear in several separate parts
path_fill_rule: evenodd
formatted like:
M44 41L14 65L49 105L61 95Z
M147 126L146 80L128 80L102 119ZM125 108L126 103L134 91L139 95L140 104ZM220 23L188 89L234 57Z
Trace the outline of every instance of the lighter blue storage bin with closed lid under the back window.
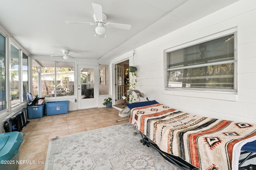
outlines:
M68 100L46 102L46 115L58 115L68 113Z

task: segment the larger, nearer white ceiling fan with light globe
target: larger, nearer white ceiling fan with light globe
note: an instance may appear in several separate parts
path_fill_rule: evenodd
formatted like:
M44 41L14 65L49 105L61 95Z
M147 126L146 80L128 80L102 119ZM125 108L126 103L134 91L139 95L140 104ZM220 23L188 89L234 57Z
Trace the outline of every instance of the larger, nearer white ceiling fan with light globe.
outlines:
M102 6L99 4L92 3L92 8L94 11L94 22L80 22L80 21L66 21L66 23L82 23L82 24L90 24L90 25L97 25L95 28L95 33L100 36L100 38L106 37L106 29L104 26L112 27L112 28L119 28L119 29L131 29L131 25L124 24L124 23L106 23L107 16L106 14L102 13ZM95 34L95 36L96 36Z

